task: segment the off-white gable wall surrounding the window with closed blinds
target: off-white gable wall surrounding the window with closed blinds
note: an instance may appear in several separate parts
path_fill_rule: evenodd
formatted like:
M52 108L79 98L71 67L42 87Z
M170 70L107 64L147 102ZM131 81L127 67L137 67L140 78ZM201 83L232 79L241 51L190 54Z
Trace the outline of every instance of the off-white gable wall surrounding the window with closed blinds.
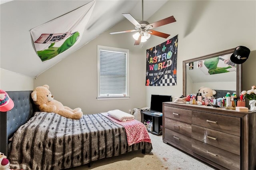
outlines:
M124 20L110 31L134 26ZM84 35L86 36L86 35ZM63 59L54 67L39 75L35 87L48 84L54 99L71 108L81 107L84 114L100 113L113 109L128 112L129 109L145 107L145 54L140 46L134 47L131 34L98 36L78 51ZM97 100L97 45L129 49L130 99Z

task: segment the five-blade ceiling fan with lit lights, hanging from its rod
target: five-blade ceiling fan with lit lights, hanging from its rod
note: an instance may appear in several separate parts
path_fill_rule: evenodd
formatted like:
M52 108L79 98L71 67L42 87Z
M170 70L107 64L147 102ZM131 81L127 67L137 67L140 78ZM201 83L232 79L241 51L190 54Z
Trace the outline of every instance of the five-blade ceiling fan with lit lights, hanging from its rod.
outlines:
M128 19L134 26L135 30L125 30L125 31L118 31L118 32L110 32L110 34L119 34L119 33L126 33L126 32L137 32L133 35L133 38L136 40L134 45L139 45L140 42L146 42L148 38L150 38L151 34L154 36L162 37L162 38L168 38L170 35L165 34L162 32L158 32L155 30L152 30L153 28L164 26L166 24L170 24L172 22L176 22L174 16L170 16L167 18L164 18L162 20L153 22L152 24L149 24L147 21L143 20L143 0L142 0L142 21L138 22L136 21L133 16L129 13L122 14L126 19Z

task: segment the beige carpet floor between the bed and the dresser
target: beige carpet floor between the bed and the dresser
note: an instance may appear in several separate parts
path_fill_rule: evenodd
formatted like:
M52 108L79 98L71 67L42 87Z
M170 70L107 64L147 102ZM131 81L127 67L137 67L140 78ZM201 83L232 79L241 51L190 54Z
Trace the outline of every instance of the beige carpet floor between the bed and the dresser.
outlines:
M142 154L141 150L112 158L91 162L91 167L78 166L69 170L214 170L196 158L162 142L162 136L150 133L153 150Z

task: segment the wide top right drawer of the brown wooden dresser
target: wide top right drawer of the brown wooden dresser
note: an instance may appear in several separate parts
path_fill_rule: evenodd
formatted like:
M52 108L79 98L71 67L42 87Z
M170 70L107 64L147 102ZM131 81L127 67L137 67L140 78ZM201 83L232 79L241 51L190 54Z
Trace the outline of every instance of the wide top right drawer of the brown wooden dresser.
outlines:
M240 136L240 118L192 111L192 124Z

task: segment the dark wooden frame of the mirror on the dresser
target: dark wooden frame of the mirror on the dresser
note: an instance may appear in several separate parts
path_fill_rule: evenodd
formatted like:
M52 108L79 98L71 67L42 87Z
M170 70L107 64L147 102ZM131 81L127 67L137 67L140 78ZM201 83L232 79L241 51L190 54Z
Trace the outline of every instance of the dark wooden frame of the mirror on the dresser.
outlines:
M235 48L227 49L224 51L220 51L217 53L212 53L209 55L204 55L202 57L197 57L193 59L188 59L183 61L183 96L186 97L186 84L187 84L187 79L186 79L186 63L194 62L194 61L199 61L199 60L204 60L208 59L211 57L217 57L219 55L226 55L233 53ZM242 64L236 64L236 94L239 95L242 91Z

